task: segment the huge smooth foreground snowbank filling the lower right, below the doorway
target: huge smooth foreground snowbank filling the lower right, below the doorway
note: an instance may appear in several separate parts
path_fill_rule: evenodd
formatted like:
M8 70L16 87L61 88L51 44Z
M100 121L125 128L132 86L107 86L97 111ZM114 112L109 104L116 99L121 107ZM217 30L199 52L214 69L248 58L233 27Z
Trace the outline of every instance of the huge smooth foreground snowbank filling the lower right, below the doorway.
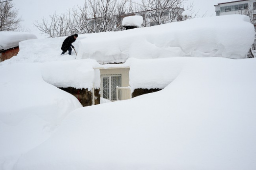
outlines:
M255 58L189 58L160 92L70 113L15 168L255 170L255 65Z

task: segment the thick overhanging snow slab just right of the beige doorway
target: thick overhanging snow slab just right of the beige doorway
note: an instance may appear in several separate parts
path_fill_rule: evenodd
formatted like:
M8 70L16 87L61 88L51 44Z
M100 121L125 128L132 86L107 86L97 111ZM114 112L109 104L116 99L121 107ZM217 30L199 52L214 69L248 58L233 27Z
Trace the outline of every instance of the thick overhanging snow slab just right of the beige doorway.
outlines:
M170 84L181 72L190 57L174 57L159 59L130 58L129 84L132 92L134 89L163 89Z

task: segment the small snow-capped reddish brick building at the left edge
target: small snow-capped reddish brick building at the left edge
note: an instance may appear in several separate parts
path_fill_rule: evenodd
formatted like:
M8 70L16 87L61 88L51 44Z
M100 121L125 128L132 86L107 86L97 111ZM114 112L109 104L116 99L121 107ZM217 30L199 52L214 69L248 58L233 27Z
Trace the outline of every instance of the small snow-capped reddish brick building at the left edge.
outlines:
M0 62L19 53L19 42L36 38L35 35L26 32L0 31Z

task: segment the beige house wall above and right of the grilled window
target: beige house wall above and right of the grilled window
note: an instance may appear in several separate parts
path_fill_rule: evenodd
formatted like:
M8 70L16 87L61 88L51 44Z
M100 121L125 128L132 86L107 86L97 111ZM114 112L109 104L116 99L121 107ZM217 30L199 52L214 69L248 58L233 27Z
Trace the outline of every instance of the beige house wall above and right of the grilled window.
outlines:
M129 86L129 71L130 71L130 68L100 69L100 75L121 75L122 87L128 87Z

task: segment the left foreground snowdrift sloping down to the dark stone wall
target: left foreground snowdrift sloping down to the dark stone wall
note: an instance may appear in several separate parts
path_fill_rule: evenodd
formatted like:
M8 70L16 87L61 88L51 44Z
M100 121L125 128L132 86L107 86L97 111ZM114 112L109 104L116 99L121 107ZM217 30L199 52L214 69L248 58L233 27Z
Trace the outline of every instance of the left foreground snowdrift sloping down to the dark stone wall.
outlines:
M82 107L73 95L46 83L40 68L39 64L0 66L1 170L12 160L9 156L38 146L68 113Z

